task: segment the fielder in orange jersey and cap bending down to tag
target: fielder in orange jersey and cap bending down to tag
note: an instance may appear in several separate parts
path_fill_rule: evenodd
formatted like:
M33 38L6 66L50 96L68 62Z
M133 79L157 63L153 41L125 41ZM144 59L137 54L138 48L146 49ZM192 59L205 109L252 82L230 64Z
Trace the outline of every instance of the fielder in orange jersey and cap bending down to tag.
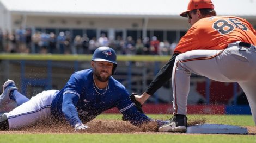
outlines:
M180 16L188 17L191 28L136 100L143 104L172 78L174 116L159 131L186 132L187 96L194 73L215 81L239 83L256 124L256 31L252 25L239 17L216 16L210 0L190 0L187 11Z

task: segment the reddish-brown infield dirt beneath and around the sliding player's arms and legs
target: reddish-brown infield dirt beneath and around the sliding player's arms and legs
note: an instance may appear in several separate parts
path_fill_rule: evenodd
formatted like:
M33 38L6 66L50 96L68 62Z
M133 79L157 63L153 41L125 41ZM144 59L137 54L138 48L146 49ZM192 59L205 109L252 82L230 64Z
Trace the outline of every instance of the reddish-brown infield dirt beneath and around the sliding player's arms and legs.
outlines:
M196 124L196 122L190 123ZM90 128L81 133L159 133L155 122L144 124L141 127L136 127L127 121L120 120L99 120L95 119L88 122ZM247 127L248 134L256 135L256 126ZM27 128L22 128L19 131L0 131L0 134L26 134L26 133L77 133L68 124L60 123L45 123L33 125Z

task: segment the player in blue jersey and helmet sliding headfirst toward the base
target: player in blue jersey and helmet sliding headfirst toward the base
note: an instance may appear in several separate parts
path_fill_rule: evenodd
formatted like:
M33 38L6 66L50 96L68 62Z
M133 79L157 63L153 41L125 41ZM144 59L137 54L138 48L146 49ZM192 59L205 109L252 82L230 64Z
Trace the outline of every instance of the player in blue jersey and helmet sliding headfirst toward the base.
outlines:
M17 91L14 81L8 80L3 85L0 105L4 108L8 100L14 100L19 106L1 116L0 130L19 129L53 118L66 120L80 131L88 128L84 123L113 107L133 125L154 121L138 111L125 87L111 76L117 67L116 58L112 48L99 47L93 54L91 69L72 74L62 90L44 91L30 100ZM157 124L166 121L157 120Z

